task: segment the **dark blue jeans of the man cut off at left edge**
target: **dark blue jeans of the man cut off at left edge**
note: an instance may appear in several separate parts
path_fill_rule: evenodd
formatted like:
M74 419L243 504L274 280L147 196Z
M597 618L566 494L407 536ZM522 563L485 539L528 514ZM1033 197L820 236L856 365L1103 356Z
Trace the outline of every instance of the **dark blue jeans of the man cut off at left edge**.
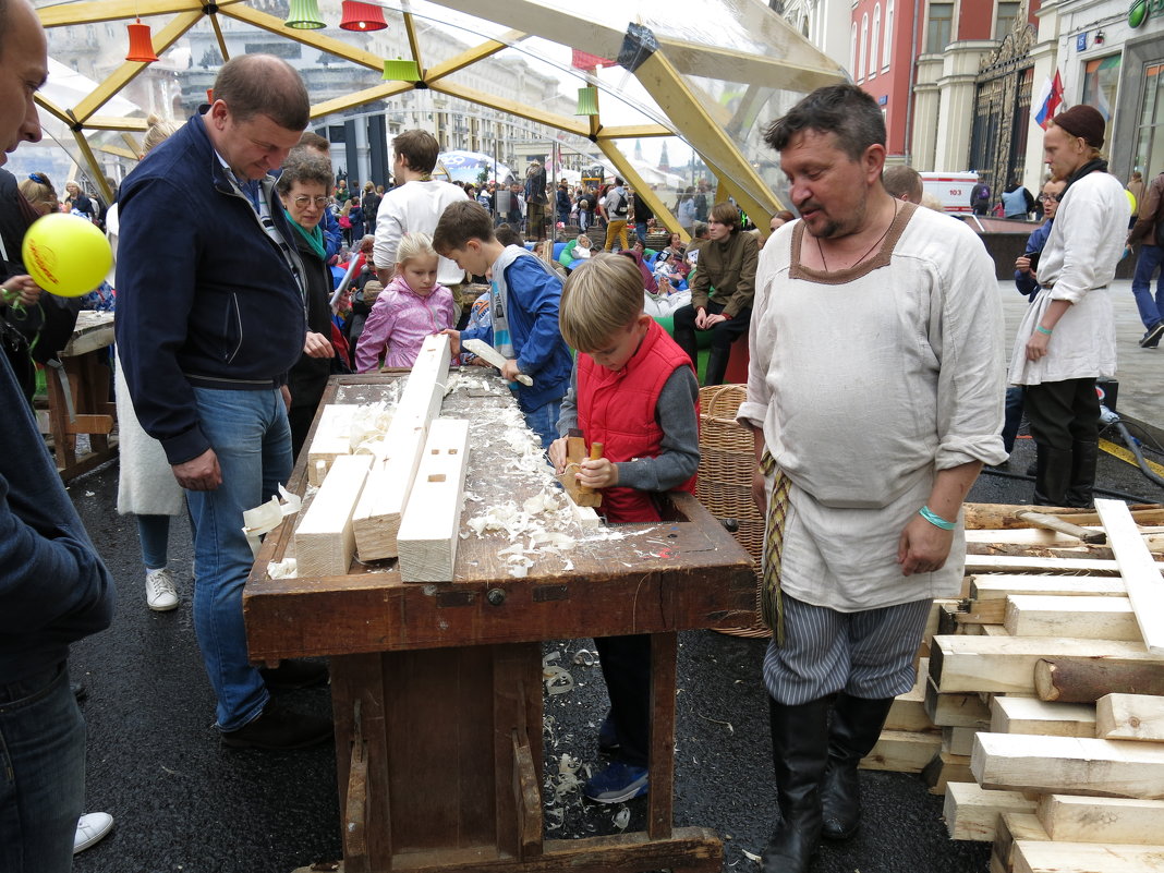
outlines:
M68 667L0 684L0 870L72 870L84 805L85 719Z

